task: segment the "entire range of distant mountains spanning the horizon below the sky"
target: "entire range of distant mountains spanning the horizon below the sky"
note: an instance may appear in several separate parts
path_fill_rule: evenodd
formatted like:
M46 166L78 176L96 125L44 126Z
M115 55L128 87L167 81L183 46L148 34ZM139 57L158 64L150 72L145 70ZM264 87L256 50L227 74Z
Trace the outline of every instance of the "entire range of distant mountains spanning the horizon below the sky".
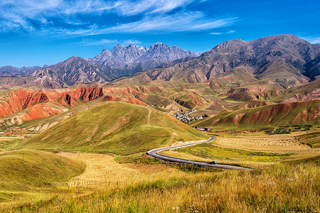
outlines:
M295 35L270 35L228 40L201 55L163 43L150 48L117 45L92 59L71 57L40 69L0 67L0 85L61 88L127 78L141 84L165 80L208 82L212 87L291 88L318 79L319 68L320 44Z

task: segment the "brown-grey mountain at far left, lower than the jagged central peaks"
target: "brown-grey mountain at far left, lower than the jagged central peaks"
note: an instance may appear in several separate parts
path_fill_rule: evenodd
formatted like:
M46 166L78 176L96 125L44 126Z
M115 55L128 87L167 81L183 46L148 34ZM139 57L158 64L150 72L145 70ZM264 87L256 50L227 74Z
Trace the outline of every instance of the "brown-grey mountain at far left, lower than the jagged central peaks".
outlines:
M14 70L9 67L6 70ZM18 69L18 68L17 68ZM45 65L31 72L31 68L18 69L20 75L0 72L0 85L3 87L39 85L46 88L68 87L74 84L105 82L114 77L112 68L99 62L87 61L80 57L71 57L56 65ZM26 73L25 75L22 75Z

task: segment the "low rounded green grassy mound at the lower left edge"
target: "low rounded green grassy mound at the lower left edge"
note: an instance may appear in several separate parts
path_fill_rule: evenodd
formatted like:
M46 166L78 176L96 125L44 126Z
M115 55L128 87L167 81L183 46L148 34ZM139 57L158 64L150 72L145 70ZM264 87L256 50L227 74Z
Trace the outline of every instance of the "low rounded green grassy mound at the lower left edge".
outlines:
M43 151L1 153L0 202L23 197L27 192L53 192L84 170L85 165Z

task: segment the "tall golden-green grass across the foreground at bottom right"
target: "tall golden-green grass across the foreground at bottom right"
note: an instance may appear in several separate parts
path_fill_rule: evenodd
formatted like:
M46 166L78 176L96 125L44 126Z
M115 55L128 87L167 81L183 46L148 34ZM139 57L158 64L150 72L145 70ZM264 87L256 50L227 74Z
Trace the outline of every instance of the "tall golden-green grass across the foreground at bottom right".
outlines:
M320 158L251 171L201 172L63 200L21 205L23 212L319 212ZM10 209L7 209L10 210Z

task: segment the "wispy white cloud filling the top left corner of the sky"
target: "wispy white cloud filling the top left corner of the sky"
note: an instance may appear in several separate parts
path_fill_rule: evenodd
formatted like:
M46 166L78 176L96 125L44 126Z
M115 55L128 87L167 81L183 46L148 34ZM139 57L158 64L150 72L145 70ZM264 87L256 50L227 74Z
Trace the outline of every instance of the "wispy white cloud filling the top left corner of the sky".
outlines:
M102 0L3 0L0 1L0 31L31 31L36 26L47 26L55 21L78 25L81 21L74 14L92 13L97 15L103 11L111 11L123 1ZM75 21L73 20L75 19Z

